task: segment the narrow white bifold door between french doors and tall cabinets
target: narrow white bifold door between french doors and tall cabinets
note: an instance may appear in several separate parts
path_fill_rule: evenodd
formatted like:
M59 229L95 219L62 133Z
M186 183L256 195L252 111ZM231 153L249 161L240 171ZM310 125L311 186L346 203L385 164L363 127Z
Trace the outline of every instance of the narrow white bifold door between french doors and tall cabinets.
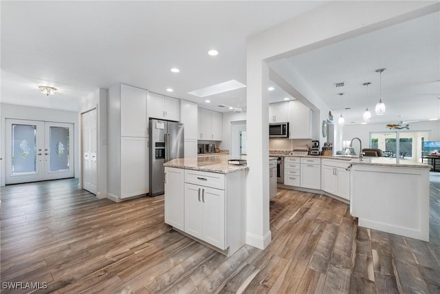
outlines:
M81 115L83 136L83 189L94 193L98 191L98 174L96 169L96 109Z

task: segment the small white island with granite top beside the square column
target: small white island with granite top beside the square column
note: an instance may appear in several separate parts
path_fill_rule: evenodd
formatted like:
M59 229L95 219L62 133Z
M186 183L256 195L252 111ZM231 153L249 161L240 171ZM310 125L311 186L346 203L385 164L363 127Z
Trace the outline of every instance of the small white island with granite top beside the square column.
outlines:
M173 159L165 167L165 222L225 255L245 244L246 165L230 156Z

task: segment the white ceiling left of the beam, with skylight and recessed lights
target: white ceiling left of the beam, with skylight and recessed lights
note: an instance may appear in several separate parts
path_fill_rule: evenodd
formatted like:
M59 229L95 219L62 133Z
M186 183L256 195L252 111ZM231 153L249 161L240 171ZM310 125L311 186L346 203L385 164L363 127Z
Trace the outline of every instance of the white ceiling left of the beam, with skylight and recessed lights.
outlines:
M1 1L1 101L77 110L79 97L126 83L208 107L187 92L232 79L245 84L247 36L322 3ZM208 56L212 48L218 56ZM39 85L58 94L47 98ZM228 111L217 105L242 98L244 107L245 89L209 98L212 109Z

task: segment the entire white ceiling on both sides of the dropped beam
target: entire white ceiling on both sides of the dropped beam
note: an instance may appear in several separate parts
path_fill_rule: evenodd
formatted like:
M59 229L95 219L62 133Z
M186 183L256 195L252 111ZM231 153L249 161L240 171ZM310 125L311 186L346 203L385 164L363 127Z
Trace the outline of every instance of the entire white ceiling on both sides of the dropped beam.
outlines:
M210 96L210 106L187 92L232 79L246 83L246 37L326 2L1 1L1 102L78 110L78 98L126 83L218 111L228 111L220 104L238 106L239 98L245 106L245 88ZM335 117L336 93L345 92L349 123L360 123L365 107L374 110L375 70L386 67L381 119L426 120L440 116L439 35L437 13L277 62L303 76ZM211 48L219 55L208 56ZM343 90L333 88L339 81L347 83ZM368 101L366 81L373 83ZM58 94L46 97L39 85ZM270 101L285 96L276 87Z

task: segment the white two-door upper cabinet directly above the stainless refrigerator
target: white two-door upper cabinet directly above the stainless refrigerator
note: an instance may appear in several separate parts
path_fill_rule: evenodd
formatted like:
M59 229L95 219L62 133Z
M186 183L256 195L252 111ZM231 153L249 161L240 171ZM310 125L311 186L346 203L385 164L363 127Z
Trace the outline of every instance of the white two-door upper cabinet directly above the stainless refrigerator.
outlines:
M148 118L179 121L179 99L148 92Z

